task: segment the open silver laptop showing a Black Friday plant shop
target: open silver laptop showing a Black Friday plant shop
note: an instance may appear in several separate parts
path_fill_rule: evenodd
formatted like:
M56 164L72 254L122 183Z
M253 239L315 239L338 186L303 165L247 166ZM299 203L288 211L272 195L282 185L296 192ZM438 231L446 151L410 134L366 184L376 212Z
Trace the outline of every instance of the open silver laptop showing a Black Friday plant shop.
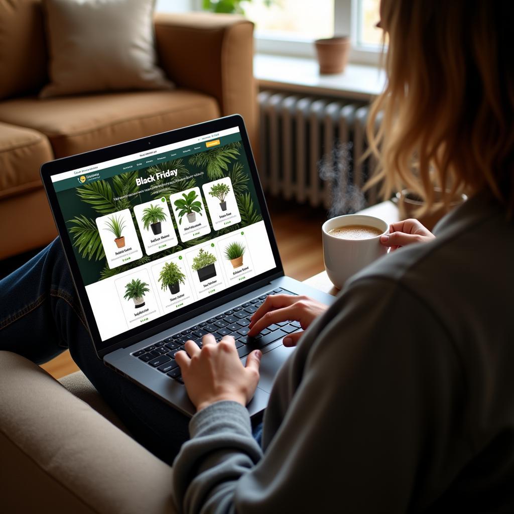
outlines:
M297 322L248 337L267 296L334 298L284 276L239 115L43 164L41 176L96 353L192 416L175 362L188 339L232 335L262 353L251 416L294 348ZM291 230L301 227L291 227Z

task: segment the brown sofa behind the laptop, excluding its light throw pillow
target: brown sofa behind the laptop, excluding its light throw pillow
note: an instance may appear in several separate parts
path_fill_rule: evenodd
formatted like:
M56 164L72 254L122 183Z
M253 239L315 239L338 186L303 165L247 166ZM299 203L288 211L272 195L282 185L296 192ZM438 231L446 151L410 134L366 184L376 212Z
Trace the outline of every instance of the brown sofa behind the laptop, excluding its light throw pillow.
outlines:
M155 35L175 89L40 99L48 82L41 2L0 2L0 260L57 234L39 174L45 161L233 113L256 143L253 24L157 13Z

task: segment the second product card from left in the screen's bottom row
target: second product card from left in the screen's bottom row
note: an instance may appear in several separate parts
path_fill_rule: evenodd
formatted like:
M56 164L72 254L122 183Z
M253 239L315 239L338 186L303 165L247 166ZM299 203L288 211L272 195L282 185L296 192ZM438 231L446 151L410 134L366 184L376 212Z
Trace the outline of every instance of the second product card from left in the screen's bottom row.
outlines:
M152 275L165 313L171 313L195 301L191 290L191 277L181 256L152 266Z

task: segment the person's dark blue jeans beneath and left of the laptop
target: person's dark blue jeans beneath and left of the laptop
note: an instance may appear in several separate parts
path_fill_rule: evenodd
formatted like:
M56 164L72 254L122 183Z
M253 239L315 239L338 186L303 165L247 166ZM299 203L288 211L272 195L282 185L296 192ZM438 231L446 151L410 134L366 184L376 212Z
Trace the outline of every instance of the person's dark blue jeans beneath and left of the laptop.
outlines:
M0 281L0 350L41 364L71 357L134 439L172 464L189 438L189 418L107 368L97 357L59 238ZM260 443L261 426L254 435Z

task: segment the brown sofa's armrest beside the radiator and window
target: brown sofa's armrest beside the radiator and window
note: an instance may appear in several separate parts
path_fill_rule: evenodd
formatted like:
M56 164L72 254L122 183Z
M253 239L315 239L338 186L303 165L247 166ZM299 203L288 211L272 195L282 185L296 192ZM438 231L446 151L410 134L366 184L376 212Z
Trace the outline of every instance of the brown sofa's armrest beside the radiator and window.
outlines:
M215 97L223 116L241 114L256 144L253 24L230 14L158 13L155 33L170 79Z

